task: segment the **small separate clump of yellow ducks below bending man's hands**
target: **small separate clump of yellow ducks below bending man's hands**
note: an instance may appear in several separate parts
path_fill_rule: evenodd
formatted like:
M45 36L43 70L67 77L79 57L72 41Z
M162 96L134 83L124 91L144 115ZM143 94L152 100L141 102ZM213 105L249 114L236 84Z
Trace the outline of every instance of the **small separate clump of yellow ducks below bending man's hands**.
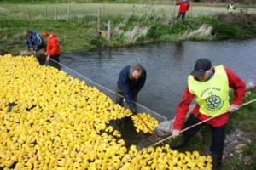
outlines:
M154 128L158 125L158 121L147 113L139 113L131 116L131 119L136 127L137 133L140 131L143 133L153 133Z

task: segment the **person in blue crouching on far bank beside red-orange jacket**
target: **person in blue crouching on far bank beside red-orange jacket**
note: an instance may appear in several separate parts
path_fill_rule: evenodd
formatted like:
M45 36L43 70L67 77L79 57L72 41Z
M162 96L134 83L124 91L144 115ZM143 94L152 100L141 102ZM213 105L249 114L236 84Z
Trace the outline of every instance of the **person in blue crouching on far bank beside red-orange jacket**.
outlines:
M44 39L35 31L26 31L26 46L27 50L20 52L21 55L40 56L44 54L45 43Z

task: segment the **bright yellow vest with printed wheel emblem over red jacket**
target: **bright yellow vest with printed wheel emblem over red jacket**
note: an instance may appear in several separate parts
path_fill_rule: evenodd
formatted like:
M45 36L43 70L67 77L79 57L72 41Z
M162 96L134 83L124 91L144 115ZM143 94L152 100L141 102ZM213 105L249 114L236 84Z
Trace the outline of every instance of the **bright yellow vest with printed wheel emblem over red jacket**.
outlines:
M223 65L216 66L214 75L206 82L197 81L189 75L188 88L204 115L218 116L230 108L229 80Z

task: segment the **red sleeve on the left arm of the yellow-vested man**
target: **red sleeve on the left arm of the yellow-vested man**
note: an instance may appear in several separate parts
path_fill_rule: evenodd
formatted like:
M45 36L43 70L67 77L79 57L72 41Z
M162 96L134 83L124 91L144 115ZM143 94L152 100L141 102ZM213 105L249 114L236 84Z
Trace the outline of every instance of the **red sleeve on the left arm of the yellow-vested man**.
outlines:
M194 97L195 96L193 94L189 93L189 88L187 87L183 93L182 101L177 105L173 129L182 129L183 122L185 121L185 118L189 111L189 105Z

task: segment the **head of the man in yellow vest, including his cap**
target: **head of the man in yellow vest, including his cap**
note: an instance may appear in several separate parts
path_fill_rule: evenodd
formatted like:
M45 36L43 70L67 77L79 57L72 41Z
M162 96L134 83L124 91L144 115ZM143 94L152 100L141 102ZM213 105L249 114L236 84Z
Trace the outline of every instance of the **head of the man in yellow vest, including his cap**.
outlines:
M211 61L209 59L201 58L196 60L194 71L191 72L191 75L194 76L196 79L204 82L207 81L211 72Z

